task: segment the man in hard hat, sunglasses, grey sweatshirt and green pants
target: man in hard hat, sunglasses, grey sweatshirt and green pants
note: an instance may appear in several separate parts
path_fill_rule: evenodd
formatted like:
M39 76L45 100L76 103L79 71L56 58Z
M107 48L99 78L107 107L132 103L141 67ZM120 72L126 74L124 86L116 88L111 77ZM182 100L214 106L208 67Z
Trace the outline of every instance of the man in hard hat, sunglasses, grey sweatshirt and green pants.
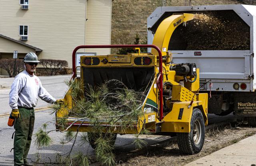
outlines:
M53 98L42 86L40 79L34 75L38 64L35 53L24 57L25 70L18 74L12 83L9 104L15 117L14 128L14 166L33 166L26 157L34 129L34 107L38 97L48 103L62 102Z

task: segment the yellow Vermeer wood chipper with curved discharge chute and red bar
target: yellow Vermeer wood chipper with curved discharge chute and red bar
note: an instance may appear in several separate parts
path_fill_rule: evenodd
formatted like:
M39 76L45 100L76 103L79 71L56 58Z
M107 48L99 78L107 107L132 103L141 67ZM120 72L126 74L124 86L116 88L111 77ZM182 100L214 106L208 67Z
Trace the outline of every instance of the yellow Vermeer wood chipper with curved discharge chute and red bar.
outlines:
M208 94L198 93L199 68L196 68L196 64L172 64L172 54L167 52L175 28L185 26L186 21L192 19L193 14L173 14L166 18L160 23L152 45L81 45L74 49L73 81L82 80L83 86L94 87L115 79L135 91L149 87L140 108L143 115L132 124L133 129L121 131L117 126L113 133L138 134L142 129L147 129L156 135L176 135L181 152L200 152L208 123ZM80 77L76 77L75 54L78 49L127 47L138 49L138 53L81 56ZM152 53L140 53L140 48L152 48ZM69 91L71 89L66 92L64 100L71 108L74 101ZM68 118L68 114L68 109L59 109L56 112L57 123L58 118ZM70 117L68 125L72 125L69 128L71 131L90 133L94 124L90 119L82 121ZM109 124L102 120L100 125L104 129Z

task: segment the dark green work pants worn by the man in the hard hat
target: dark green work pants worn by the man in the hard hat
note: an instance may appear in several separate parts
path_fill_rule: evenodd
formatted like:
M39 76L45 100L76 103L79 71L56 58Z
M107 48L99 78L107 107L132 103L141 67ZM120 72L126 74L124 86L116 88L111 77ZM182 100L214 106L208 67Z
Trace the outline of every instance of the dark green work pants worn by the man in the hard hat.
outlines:
M19 111L20 119L15 119L14 122L14 163L16 165L22 165L26 162L35 121L33 108L19 107Z

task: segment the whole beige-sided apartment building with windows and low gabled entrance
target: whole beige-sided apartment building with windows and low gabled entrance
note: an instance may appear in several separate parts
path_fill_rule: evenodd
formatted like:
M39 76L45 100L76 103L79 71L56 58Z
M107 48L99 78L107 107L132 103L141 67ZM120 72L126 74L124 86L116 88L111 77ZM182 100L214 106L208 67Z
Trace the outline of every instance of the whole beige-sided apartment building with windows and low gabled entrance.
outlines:
M111 12L112 0L0 0L0 58L35 52L71 67L76 46L110 44ZM106 55L110 49L79 52Z

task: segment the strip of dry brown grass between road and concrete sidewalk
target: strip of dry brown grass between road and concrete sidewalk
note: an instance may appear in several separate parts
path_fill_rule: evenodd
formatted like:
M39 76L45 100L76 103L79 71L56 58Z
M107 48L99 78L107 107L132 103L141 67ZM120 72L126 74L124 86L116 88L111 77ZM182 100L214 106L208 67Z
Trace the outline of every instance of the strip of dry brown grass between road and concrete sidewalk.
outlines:
M120 164L122 166L155 166L156 163L159 166L170 165L170 163L173 166L183 166L255 134L255 128L238 123L234 126L230 124L216 125L206 130L204 147L198 154L180 154L176 141L172 141L170 145L165 147L158 145L132 154L121 153L117 158L122 159L123 164Z

